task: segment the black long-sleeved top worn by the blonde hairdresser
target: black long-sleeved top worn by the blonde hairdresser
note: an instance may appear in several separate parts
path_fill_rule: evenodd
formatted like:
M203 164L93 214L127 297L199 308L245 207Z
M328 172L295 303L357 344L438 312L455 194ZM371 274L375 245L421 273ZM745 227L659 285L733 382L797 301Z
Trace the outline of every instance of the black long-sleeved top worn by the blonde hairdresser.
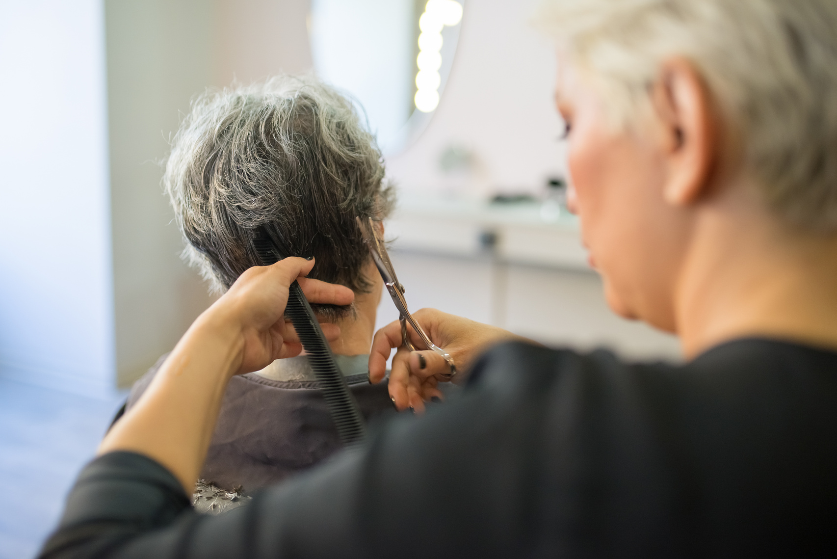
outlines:
M105 454L48 557L837 556L837 353L749 339L680 367L498 346L456 402L198 515Z

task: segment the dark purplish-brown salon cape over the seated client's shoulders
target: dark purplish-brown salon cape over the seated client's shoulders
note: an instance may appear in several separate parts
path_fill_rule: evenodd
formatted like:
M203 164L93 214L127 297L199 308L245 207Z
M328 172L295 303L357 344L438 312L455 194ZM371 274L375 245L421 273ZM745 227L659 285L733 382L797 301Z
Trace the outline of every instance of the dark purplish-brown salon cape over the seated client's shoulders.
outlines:
M136 403L167 355L131 388ZM369 384L366 374L346 381L367 420L393 409L387 382ZM285 479L341 449L326 401L316 381L275 381L256 373L233 377L200 477L225 490L250 492Z

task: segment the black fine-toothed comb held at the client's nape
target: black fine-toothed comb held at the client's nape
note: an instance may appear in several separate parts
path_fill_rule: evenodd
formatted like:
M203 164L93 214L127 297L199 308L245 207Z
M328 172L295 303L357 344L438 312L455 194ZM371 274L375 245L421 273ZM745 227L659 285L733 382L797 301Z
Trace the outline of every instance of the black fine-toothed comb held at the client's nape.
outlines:
M263 266L275 264L286 256L281 254L275 241L263 228L256 230L253 249L259 255ZM337 435L344 446L350 447L360 443L366 434L363 416L357 408L354 395L349 391L346 378L334 362L331 346L328 345L326 336L322 333L314 310L308 304L297 281L290 285L285 315L290 318L308 354L311 368L314 370L317 382L320 383L331 418L334 419Z

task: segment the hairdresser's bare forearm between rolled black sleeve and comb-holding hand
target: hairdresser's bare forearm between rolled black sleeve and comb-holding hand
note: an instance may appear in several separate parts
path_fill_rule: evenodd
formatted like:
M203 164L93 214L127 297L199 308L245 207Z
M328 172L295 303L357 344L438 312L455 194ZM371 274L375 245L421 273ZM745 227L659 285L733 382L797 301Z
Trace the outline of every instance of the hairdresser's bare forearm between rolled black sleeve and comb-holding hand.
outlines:
M224 389L238 369L242 341L205 313L187 331L136 406L116 423L99 454L126 450L157 460L187 492L197 480Z

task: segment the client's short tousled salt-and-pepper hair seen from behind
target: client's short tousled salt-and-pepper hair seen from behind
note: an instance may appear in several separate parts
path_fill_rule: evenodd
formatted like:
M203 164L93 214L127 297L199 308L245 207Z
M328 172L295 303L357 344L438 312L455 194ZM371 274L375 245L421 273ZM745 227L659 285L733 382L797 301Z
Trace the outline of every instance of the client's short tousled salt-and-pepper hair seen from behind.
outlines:
M362 293L369 251L355 217L383 219L394 191L350 100L312 76L208 91L172 141L163 185L184 258L216 292L259 265L264 227L287 255L314 256L310 277Z

